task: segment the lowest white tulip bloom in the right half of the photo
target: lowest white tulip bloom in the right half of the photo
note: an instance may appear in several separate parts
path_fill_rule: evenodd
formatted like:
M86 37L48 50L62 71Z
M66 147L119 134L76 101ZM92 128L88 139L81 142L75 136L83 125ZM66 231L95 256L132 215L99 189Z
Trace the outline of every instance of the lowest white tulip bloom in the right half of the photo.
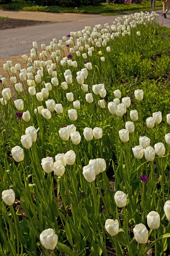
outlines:
M137 243L146 243L148 241L148 230L144 224L137 224L133 229L133 233Z

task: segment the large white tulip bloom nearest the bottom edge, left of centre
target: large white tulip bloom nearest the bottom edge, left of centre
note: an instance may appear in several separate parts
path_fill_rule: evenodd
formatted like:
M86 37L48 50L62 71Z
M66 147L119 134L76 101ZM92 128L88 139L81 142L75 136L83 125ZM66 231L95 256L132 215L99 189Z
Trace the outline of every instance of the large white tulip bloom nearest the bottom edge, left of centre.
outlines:
M53 229L45 229L39 236L40 242L44 248L53 250L58 243L58 236Z

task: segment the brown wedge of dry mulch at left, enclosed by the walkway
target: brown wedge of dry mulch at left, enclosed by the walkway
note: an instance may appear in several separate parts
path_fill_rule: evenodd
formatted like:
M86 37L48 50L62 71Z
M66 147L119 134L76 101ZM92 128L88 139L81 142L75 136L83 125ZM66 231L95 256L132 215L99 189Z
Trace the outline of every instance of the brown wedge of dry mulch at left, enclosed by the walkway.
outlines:
M22 19L4 19L0 20L0 29L8 29L14 27L26 27L37 26L42 24L52 23L51 21L39 21L39 20L22 20Z

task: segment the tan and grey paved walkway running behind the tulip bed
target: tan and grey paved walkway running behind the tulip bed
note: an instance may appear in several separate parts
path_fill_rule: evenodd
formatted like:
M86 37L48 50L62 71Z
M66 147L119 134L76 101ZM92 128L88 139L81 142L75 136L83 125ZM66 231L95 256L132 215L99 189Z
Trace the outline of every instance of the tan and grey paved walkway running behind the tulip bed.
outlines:
M170 13L167 19L163 18L163 12L159 13L158 23L170 27ZM62 39L71 31L82 30L85 26L94 27L96 24L112 24L118 16L104 16L76 13L43 13L0 10L0 16L8 18L52 21L51 24L38 26L18 27L0 31L0 59L10 58L13 55L26 54L32 48L32 42L36 40L40 45L49 45L53 38ZM119 15L124 16L124 15Z

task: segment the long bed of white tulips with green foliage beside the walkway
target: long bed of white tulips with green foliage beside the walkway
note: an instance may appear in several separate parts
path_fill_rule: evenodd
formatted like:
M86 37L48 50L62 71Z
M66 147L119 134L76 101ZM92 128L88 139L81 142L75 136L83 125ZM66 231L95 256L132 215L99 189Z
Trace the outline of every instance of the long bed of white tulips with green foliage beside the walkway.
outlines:
M170 37L156 18L85 27L40 54L33 42L27 68L4 64L0 255L168 255Z

